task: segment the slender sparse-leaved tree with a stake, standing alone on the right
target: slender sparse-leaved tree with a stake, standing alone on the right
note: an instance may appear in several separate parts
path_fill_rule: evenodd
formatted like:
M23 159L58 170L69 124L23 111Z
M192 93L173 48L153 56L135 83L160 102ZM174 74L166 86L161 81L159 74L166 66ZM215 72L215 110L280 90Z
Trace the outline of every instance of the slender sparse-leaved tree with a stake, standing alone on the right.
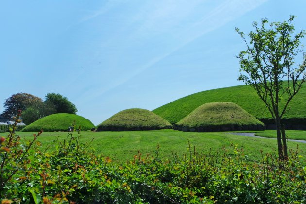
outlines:
M287 157L286 138L281 136L280 120L286 113L289 102L298 93L306 81L306 54L301 38L304 30L294 34L290 16L288 21L272 22L266 28L267 19L259 26L253 22L255 31L251 31L249 41L245 34L236 28L244 40L247 50L240 51L240 76L238 80L251 85L259 98L266 104L275 120L279 158ZM300 64L294 59L302 58ZM284 100L282 105L280 101ZM283 144L282 144L283 143Z

